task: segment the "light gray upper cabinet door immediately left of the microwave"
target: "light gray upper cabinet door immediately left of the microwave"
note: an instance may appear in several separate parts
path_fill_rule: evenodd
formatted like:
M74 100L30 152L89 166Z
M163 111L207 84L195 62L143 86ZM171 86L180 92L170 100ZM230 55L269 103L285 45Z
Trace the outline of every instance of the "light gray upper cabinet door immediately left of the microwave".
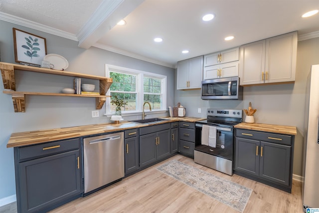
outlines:
M189 59L188 89L200 89L203 76L203 56Z

